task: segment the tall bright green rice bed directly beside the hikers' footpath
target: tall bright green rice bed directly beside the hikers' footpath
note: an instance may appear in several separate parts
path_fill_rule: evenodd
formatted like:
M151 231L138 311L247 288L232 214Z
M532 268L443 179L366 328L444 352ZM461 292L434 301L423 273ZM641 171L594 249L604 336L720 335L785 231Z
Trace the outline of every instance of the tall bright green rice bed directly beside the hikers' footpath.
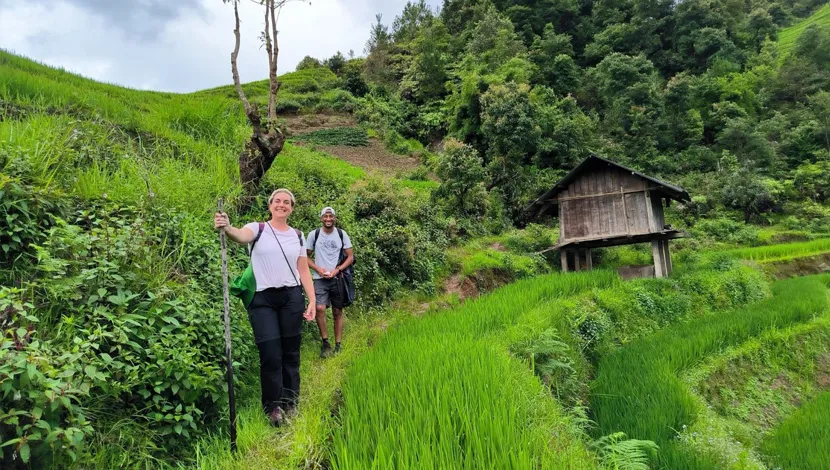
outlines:
M333 468L592 468L549 392L487 335L546 299L618 282L539 276L386 335L349 370Z

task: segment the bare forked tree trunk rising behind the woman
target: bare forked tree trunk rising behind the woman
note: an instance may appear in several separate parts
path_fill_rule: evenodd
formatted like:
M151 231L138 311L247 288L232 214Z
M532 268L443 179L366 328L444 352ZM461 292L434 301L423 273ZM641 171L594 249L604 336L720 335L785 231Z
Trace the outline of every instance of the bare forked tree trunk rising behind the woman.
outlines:
M268 49L268 64L269 75L271 81L271 89L269 93L268 119L263 128L262 117L256 104L252 104L245 96L245 91L242 89L242 84L239 79L239 69L237 67L237 57L239 55L239 0L233 0L233 12L235 19L234 44L233 53L231 53L231 69L233 73L233 85L242 105L245 108L245 116L251 124L252 132L250 140L245 144L245 148L239 155L239 178L243 188L242 208L243 210L250 208L257 191L259 190L259 182L265 173L271 168L271 165L276 160L277 155L282 151L285 145L285 135L281 129L277 127L276 123L276 88L277 88L277 57L278 53L271 51L271 32L268 30L269 19L271 28L276 31L276 26L273 22L276 17L273 14L274 0L266 0L265 10L265 41ZM270 15L270 18L269 18Z

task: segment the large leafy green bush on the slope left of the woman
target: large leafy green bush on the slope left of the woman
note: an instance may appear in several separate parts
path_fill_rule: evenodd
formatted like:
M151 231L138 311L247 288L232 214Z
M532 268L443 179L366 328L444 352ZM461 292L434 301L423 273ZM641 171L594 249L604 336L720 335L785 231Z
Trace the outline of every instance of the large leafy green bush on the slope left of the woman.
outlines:
M0 408L27 410L29 419L39 413L32 410L50 410L38 418L48 423L38 426L51 449L32 453L40 463L74 459L91 433L119 414L146 429L157 449L189 451L191 438L218 418L224 396L213 233L179 214L134 207L100 205L69 216L34 247L38 262L12 304L39 301L5 330L16 333L3 342L0 366L11 379L2 383ZM184 277L182 260L197 263L187 267L198 274ZM243 336L239 328L236 337ZM238 359L251 352L247 341L235 347ZM21 371L27 357L41 359ZM8 393L27 389L32 393ZM66 396L65 412L41 402L52 389ZM86 415L99 418L87 422ZM32 445L39 439L23 422L11 435ZM55 439L71 445L58 451ZM97 451L90 452L85 461Z

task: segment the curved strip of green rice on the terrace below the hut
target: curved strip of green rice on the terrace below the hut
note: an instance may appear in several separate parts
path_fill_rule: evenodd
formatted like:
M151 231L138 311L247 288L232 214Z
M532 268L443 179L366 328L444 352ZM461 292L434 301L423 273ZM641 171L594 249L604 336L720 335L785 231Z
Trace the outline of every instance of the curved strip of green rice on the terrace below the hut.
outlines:
M622 431L655 441L662 468L721 468L713 457L696 455L676 439L699 411L678 373L721 348L826 310L827 280L825 275L780 281L768 300L667 328L604 357L591 394L597 435Z

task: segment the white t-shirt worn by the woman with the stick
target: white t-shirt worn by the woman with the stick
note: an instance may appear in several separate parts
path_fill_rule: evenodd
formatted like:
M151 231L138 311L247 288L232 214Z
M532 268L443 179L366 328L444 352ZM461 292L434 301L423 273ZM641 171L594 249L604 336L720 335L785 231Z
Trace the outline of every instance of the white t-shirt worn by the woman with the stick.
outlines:
M244 228L250 229L256 235L259 232L259 222L251 222L246 224ZM282 249L285 250L285 256L282 255L277 238L279 238L279 243L282 244ZM251 253L251 264L254 267L257 292L270 287L300 285L297 259L307 256L303 245L305 243L302 232L298 234L291 227L288 228L287 232L280 232L271 227L268 222L265 222L262 235L254 246L253 253ZM287 263L285 258L288 258Z

